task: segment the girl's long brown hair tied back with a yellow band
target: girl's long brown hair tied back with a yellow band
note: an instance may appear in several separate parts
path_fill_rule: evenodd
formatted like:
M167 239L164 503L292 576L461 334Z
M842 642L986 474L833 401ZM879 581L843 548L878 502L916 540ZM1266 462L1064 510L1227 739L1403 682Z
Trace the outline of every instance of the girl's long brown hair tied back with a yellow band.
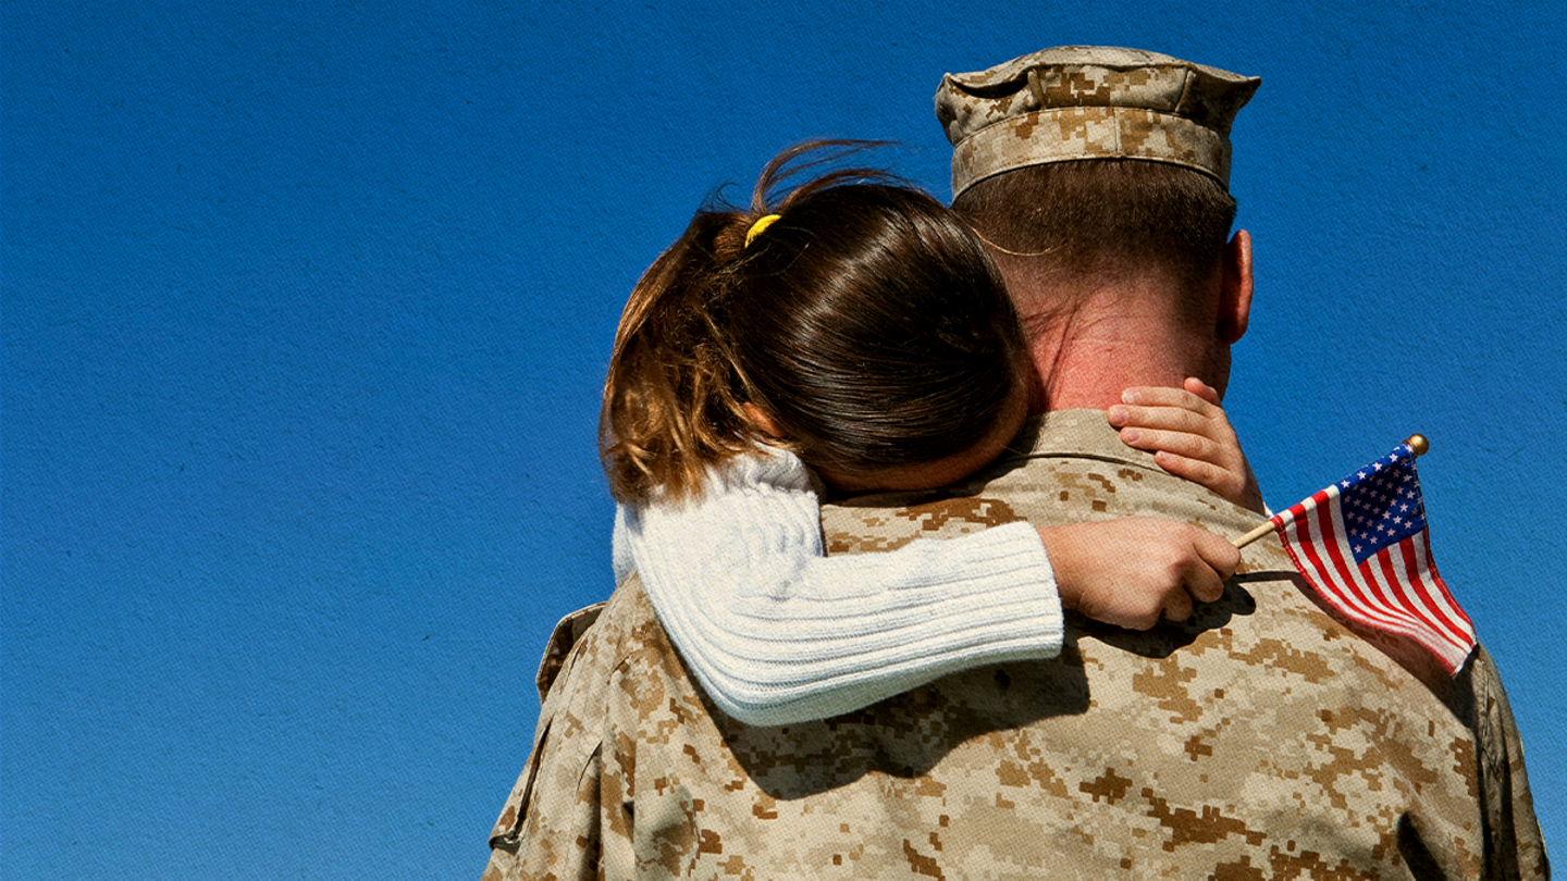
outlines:
M617 500L699 492L710 466L763 444L870 477L962 453L993 430L1022 384L1025 345L975 234L882 171L774 193L868 146L782 152L749 212L704 207L636 284L599 423ZM766 215L779 216L757 224Z

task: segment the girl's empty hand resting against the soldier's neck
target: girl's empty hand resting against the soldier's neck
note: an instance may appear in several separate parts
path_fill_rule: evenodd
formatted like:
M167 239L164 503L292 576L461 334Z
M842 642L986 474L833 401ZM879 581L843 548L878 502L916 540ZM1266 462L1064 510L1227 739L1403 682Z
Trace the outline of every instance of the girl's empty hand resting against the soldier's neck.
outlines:
M1230 502L1261 514L1263 494L1241 442L1219 408L1219 393L1202 379L1183 389L1138 386L1106 412L1120 440L1150 450L1153 461L1175 477L1200 483Z

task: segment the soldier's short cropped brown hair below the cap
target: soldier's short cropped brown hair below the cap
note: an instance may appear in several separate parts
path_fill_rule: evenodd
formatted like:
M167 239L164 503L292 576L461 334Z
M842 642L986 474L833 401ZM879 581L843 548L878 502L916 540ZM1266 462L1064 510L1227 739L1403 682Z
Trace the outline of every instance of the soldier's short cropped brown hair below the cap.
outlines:
M1080 276L1152 265L1186 287L1210 277L1235 223L1218 180L1142 160L1020 168L975 183L953 210L1003 254Z

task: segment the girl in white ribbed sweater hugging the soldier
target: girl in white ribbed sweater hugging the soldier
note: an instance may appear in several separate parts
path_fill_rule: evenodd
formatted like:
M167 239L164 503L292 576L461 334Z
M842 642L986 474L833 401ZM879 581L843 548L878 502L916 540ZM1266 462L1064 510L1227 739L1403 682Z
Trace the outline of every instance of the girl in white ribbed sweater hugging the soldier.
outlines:
M1235 549L1153 519L824 557L824 491L967 477L1017 434L1034 387L1000 274L940 202L852 169L769 207L787 177L840 155L794 161L824 146L774 158L749 212L696 215L632 292L605 382L616 580L641 574L718 707L749 724L826 718L1051 658L1062 608L1145 629L1218 599Z

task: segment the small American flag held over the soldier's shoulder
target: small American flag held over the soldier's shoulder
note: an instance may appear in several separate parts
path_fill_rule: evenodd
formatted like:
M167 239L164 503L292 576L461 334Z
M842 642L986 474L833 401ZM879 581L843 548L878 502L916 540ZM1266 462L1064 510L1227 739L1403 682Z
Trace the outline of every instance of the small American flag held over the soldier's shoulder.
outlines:
M1415 451L1399 444L1272 525L1301 575L1348 618L1429 649L1448 674L1475 647L1475 625L1431 560Z

